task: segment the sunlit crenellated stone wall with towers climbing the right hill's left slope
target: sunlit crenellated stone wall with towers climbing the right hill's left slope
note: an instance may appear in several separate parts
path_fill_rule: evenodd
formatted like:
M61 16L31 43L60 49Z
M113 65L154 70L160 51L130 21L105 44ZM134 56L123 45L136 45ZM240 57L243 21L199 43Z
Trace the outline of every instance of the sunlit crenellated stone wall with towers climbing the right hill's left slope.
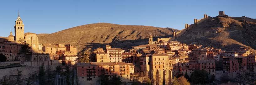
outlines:
M207 14L204 14L204 18L202 19L194 19L194 24L199 24L201 22L203 22L204 20L206 20L208 18ZM191 25L191 24L190 24ZM169 38L157 38L157 41L172 41L175 40L176 38L178 38L179 36L183 35L186 31L188 31L190 29L189 24L185 24L185 29L180 30L179 32L173 32L173 37L169 37Z

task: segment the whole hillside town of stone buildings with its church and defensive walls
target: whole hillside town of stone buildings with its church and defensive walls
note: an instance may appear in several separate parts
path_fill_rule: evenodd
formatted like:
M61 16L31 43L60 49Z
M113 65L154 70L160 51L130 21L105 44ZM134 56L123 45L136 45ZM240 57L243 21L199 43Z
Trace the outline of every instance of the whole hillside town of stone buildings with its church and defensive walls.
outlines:
M220 11L222 16L227 15ZM194 19L194 24L207 18L205 14ZM177 85L173 83L182 78L195 84L253 84L256 77L256 55L247 48L222 50L176 41L189 30L188 24L173 37L157 41L148 33L147 45L129 50L105 45L84 53L70 43L40 44L37 34L25 29L18 13L15 36L11 31L0 37L0 79L1 84L9 83L3 85Z

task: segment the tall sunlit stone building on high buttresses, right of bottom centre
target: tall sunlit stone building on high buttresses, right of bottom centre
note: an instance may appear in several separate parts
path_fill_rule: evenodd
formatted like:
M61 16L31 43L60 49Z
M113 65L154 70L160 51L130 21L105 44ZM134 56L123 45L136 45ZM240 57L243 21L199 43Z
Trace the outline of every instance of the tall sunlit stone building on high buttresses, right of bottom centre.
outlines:
M172 81L167 54L147 54L139 57L141 71L146 73L153 85L168 85Z

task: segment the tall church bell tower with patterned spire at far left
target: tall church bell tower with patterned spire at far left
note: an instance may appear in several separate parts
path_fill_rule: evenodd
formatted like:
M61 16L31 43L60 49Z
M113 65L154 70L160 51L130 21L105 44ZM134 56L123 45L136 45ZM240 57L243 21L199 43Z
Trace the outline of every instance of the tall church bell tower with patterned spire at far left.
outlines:
M14 29L15 29L14 40L16 40L17 43L21 43L20 41L24 40L24 24L22 19L20 18L19 13L18 13L18 18L15 21Z

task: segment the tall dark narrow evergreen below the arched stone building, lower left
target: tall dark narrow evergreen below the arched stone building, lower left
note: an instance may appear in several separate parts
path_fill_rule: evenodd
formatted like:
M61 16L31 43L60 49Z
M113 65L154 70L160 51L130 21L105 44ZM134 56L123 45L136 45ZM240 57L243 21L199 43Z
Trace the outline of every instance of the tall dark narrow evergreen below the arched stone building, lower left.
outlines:
M45 85L45 69L44 69L44 65L40 66L39 67L39 74L38 74L38 77L39 77L39 84L40 85Z

